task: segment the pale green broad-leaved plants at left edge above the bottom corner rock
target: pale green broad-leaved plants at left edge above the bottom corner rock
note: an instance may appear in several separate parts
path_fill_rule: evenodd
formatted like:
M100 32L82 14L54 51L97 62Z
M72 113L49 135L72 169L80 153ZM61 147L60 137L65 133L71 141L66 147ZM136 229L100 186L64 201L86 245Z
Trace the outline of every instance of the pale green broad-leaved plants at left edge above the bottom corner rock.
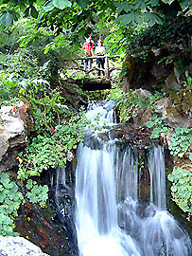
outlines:
M27 191L26 191L27 190ZM48 198L48 186L39 186L36 181L28 179L26 187L23 187L20 192L19 187L14 181L10 180L9 174L0 174L0 235L17 236L14 232L14 220L18 216L18 210L21 204L26 203L26 200L34 203L39 203L44 206Z

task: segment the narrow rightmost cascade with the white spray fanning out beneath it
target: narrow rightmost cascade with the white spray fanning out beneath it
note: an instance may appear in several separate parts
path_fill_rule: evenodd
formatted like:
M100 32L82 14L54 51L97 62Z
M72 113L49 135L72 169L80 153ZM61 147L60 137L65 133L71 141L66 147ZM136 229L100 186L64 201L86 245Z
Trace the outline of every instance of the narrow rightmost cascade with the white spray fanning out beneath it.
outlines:
M150 205L142 221L141 244L144 256L189 256L187 233L166 211L166 172L164 151L153 147L148 156L150 174Z

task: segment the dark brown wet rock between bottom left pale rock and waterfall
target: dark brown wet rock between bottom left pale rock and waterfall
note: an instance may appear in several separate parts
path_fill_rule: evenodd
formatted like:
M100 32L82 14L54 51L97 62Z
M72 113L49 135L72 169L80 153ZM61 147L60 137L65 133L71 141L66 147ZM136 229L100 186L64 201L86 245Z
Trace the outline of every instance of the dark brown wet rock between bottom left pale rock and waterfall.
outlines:
M65 227L56 214L54 202L51 199L49 202L46 208L29 203L22 206L15 221L14 231L19 232L48 255L74 256L76 254L71 252Z

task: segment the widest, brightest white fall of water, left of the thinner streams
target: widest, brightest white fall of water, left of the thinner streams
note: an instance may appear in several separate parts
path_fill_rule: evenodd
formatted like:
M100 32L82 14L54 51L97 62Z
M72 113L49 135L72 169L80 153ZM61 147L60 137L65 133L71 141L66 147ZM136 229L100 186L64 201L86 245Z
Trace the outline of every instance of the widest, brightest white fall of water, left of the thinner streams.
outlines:
M79 145L77 231L83 256L140 255L131 236L118 227L114 151L115 146L92 150Z

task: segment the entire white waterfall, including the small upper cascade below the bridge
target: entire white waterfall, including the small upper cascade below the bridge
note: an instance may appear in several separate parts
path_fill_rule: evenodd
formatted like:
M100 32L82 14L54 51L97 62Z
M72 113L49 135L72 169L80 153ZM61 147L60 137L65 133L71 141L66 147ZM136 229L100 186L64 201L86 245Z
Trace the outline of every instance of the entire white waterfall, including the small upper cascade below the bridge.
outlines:
M113 123L110 103L92 105L87 117ZM101 124L101 123L99 123ZM150 205L138 212L137 154L98 135L79 144L76 228L80 256L189 256L190 239L166 212L162 147L148 156Z

